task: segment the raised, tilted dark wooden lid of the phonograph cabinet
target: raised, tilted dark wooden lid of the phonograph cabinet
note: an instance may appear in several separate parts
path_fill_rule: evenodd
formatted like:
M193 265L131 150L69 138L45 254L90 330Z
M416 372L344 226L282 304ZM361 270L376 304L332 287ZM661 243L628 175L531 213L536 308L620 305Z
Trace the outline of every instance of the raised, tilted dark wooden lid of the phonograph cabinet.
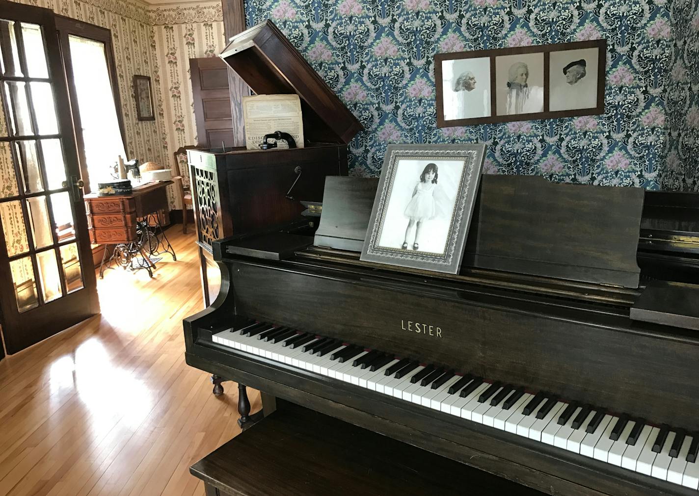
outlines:
M256 94L298 94L309 141L346 145L363 129L271 20L231 38L219 57Z

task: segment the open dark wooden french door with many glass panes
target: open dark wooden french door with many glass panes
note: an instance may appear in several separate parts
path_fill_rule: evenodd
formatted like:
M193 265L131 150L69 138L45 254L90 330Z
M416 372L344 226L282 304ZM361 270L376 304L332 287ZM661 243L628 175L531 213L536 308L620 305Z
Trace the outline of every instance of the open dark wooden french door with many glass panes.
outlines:
M99 312L52 10L0 0L0 307L16 353Z

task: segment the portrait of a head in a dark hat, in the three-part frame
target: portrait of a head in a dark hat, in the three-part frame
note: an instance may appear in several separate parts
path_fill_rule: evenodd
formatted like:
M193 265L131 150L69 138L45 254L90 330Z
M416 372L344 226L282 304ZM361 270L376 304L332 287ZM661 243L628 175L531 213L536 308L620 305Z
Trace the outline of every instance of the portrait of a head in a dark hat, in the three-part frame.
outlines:
M549 110L596 107L599 49L551 52L549 57Z

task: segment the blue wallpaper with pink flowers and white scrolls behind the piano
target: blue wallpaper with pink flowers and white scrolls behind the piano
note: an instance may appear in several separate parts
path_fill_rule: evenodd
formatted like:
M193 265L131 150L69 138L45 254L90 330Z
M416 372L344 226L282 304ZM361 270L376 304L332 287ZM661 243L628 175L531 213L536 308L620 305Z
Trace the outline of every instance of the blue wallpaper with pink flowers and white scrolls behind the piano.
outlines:
M352 175L380 173L387 143L464 141L489 145L486 173L699 189L698 1L247 0L246 15L271 18L366 128ZM435 53L596 38L604 115L437 128Z

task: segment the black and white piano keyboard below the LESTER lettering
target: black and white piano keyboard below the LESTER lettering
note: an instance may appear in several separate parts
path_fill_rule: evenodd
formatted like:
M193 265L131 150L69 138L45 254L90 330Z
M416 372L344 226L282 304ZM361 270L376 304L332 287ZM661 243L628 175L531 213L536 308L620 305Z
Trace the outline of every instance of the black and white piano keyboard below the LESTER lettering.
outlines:
M699 489L699 433L589 404L461 375L417 360L366 350L329 337L251 323L213 341L384 395L421 404L596 460Z

